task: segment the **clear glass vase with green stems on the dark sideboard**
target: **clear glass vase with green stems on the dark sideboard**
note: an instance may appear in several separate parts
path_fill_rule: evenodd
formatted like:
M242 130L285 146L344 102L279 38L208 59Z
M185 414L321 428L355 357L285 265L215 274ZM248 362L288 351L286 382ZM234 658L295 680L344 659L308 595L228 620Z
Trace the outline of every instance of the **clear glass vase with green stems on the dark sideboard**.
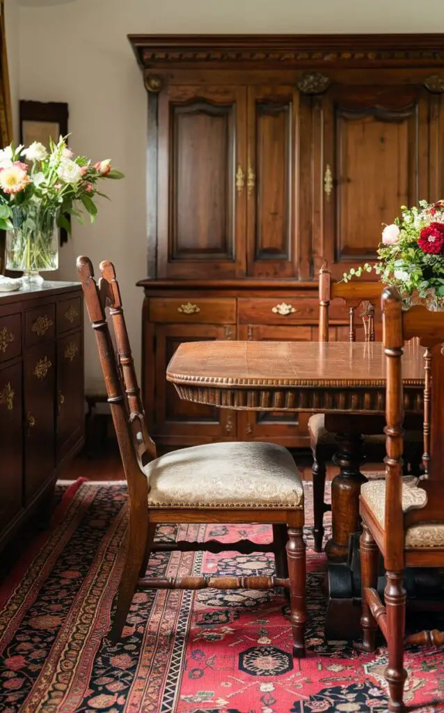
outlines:
M56 215L14 207L13 230L6 232L6 268L22 270L24 282L41 284L40 272L58 268L58 229Z

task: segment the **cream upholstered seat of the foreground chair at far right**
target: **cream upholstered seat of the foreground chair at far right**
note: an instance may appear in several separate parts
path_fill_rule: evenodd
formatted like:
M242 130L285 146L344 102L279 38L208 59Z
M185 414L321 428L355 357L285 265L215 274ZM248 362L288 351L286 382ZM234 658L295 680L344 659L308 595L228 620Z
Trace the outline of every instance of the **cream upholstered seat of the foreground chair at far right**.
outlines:
M403 511L421 508L427 503L427 493L418 488L418 478L403 478ZM370 481L361 486L361 498L374 517L385 528L386 481ZM406 548L444 547L444 523L419 523L406 528Z

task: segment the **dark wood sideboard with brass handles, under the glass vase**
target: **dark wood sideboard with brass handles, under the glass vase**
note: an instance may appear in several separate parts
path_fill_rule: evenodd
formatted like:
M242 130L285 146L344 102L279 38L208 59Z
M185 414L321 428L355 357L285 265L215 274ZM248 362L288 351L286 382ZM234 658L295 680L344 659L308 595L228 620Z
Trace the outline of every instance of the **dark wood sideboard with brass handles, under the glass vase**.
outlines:
M83 294L0 292L0 548L83 445Z

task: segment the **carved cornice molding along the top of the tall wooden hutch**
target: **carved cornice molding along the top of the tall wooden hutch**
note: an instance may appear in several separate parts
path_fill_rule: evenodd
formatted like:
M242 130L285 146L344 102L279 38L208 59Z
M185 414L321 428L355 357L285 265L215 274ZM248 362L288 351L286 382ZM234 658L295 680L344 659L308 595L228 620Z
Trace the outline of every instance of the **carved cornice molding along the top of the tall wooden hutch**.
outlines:
M444 35L130 35L155 66L444 66Z

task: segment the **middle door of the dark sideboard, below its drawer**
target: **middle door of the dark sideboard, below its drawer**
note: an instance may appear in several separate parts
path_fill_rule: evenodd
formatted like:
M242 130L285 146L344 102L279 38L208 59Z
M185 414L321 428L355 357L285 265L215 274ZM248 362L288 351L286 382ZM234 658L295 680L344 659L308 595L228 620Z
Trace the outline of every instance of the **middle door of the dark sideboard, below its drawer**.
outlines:
M54 470L55 357L53 342L38 344L25 355L26 504Z

